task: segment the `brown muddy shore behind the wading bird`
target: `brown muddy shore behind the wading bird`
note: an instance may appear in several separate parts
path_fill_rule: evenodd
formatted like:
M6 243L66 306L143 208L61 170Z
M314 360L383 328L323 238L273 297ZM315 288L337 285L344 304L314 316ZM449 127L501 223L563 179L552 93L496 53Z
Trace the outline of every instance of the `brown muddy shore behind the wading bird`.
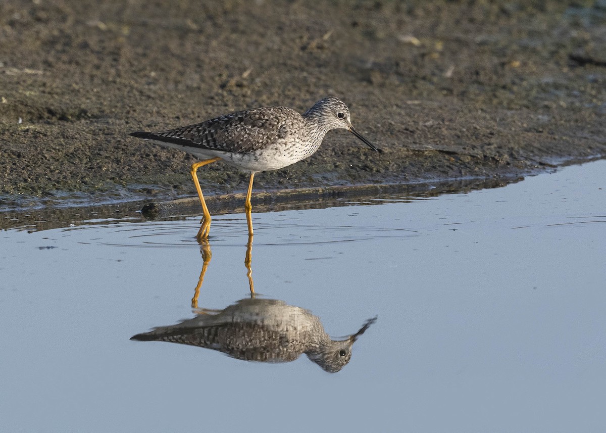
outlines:
M470 4L471 3L471 4ZM535 4L536 3L536 4ZM356 129L256 191L509 178L606 156L606 4L0 5L3 210L195 195L191 156L128 136L335 95ZM247 173L199 170L207 195Z

